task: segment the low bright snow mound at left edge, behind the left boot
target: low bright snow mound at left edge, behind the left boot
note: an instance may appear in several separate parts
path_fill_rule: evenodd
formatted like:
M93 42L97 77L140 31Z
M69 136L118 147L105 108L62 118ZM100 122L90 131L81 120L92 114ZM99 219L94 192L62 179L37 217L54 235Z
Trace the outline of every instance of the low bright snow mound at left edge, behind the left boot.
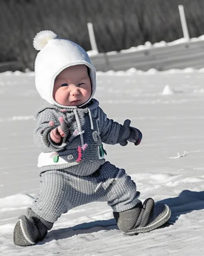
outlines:
M33 202L33 197L26 194L16 194L0 198L0 209L9 207L29 206Z

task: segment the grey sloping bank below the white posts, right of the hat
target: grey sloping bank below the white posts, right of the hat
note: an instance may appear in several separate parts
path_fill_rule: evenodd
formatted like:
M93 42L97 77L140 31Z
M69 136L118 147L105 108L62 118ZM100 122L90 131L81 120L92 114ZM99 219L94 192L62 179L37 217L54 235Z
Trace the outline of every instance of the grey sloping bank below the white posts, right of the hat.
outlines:
M204 40L115 55L99 54L91 60L96 70L103 72L129 68L143 71L151 68L159 71L188 67L198 69L204 67Z

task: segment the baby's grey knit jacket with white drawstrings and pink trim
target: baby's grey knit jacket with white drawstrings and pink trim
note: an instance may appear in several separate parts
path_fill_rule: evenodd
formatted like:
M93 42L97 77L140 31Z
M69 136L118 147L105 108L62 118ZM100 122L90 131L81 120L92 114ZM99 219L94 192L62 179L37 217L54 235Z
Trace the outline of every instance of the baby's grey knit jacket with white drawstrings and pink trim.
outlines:
M64 118L63 130L66 136L61 143L56 144L51 140L50 132L60 125L60 116ZM63 109L47 103L37 109L35 120L35 144L42 152L57 152L59 157L66 160L66 164L40 167L41 172L66 169L78 176L91 175L105 162L106 152L102 143L125 146L127 141L134 142L131 137L137 140L139 136L135 128L108 119L96 99L82 108ZM55 126L49 125L51 120ZM136 131L133 136L132 130Z

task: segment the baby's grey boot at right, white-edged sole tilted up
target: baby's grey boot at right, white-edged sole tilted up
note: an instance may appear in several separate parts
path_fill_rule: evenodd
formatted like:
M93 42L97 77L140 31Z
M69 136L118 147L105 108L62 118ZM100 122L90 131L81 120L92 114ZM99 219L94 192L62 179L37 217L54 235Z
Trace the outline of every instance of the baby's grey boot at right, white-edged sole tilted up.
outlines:
M135 207L124 212L114 212L114 218L120 230L125 234L145 233L165 224L171 217L171 210L166 204L155 205L152 198L139 202Z

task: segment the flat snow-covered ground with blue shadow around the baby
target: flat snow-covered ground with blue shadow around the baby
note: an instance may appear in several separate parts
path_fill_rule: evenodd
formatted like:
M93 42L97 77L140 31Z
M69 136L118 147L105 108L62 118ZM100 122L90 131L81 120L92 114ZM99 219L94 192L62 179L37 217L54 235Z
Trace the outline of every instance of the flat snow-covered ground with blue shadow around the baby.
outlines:
M142 201L152 197L171 207L169 225L124 236L111 208L92 203L61 216L42 242L21 248L12 233L39 191L39 150L32 134L33 113L42 100L32 74L1 74L0 255L204 255L203 81L202 72L98 75L96 98L108 117L130 118L143 132L138 147L105 145L107 160L126 169ZM171 94L162 94L165 86Z

